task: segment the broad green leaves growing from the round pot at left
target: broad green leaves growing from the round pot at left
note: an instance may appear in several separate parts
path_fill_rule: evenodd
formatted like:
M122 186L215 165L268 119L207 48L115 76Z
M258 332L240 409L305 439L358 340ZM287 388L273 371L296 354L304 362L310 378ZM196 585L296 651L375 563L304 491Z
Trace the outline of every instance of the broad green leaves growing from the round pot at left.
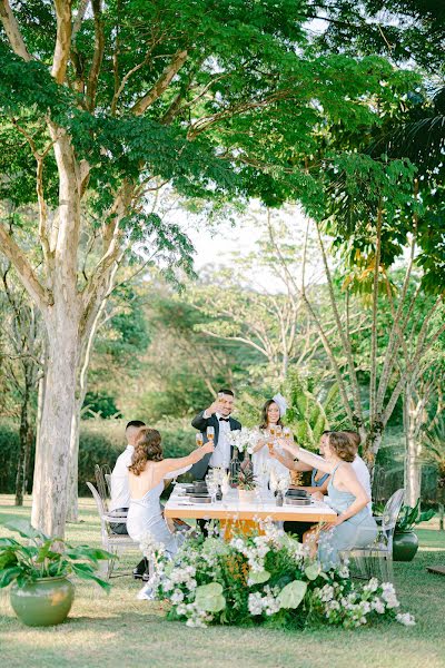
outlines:
M48 538L31 527L28 520L8 522L24 541L0 538L0 588L16 581L19 587L39 578L60 578L75 574L93 580L109 591L111 584L96 574L98 562L112 554L88 546L70 546L58 538Z

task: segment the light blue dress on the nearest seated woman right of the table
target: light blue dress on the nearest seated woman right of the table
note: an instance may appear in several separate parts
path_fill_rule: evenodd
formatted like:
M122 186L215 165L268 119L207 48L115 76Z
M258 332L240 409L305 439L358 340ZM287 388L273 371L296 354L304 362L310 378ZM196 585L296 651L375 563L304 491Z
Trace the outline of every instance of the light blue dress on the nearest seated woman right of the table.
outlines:
M334 487L335 472L339 465L334 469L327 488L329 505L338 514L345 512L355 501L354 494ZM330 531L322 531L318 541L318 559L323 569L329 570L338 566L339 552L343 550L369 546L376 539L377 532L377 524L367 507Z

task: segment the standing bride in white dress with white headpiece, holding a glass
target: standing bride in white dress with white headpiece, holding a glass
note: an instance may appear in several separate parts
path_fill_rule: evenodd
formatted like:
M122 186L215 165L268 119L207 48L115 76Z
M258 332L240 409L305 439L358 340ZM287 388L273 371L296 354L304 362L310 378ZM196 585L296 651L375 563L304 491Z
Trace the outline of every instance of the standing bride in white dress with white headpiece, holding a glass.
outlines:
M281 435L281 416L286 412L285 401L284 399L280 401L280 399L279 395L276 395L274 399L267 400L263 406L261 424L259 425L260 438L251 455L254 473L258 478L268 477L270 471L274 470L278 478L290 479L289 469L291 469L293 459L276 441ZM270 455L273 446L279 450L283 460L288 460L288 466Z

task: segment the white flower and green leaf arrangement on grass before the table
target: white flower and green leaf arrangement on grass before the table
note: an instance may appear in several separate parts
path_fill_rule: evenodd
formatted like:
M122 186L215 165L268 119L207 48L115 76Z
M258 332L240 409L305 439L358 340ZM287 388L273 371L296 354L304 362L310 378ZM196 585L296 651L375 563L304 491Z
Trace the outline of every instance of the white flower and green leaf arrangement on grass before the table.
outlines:
M167 617L190 627L210 623L303 628L357 628L377 620L415 623L399 612L392 583L356 584L347 567L324 572L306 548L271 523L265 534L189 538L174 561L149 537L141 544L155 562L151 587L170 602Z

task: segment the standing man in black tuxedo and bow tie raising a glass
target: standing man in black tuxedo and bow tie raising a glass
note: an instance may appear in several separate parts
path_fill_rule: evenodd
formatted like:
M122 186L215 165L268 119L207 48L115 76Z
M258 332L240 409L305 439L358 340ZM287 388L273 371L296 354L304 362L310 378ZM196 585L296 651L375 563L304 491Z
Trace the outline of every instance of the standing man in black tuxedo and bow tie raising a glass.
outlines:
M192 420L191 426L202 433L205 443L208 441L207 428L215 429L215 451L194 464L191 472L195 480L202 480L209 468L229 468L234 449L227 440L227 434L241 429L241 423L231 418L234 403L235 396L231 390L219 390L217 400Z

